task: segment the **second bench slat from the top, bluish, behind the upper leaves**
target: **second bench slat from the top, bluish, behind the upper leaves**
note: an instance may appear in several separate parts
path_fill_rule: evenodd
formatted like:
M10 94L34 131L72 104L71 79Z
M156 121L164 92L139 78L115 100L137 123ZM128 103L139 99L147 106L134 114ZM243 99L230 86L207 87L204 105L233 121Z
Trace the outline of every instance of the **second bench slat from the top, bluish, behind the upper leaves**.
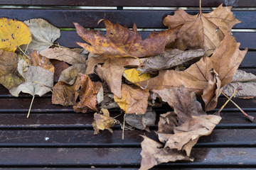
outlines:
M205 11L209 12L209 11ZM22 15L21 15L22 13ZM188 11L196 15L198 11ZM234 15L242 21L234 28L256 28L256 11L233 11ZM162 20L174 11L137 11L137 10L66 10L66 9L9 9L2 8L0 17L14 18L25 21L31 18L43 18L57 27L73 28L73 22L80 23L85 28L104 28L104 24L97 26L102 18L114 23L132 28L136 23L138 28L165 28ZM145 22L149 21L149 22Z

